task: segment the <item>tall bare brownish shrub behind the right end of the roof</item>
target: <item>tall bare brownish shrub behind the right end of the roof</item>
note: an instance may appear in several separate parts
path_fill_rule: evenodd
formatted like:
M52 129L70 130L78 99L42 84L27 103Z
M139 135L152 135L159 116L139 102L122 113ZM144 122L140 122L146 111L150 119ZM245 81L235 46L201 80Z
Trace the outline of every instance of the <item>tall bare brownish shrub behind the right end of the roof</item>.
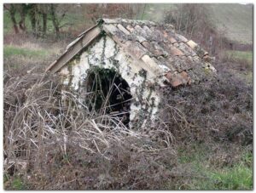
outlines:
M225 30L217 30L209 13L206 4L184 3L177 5L177 9L167 11L164 21L206 48L210 54L218 54L230 47L230 41L224 37Z

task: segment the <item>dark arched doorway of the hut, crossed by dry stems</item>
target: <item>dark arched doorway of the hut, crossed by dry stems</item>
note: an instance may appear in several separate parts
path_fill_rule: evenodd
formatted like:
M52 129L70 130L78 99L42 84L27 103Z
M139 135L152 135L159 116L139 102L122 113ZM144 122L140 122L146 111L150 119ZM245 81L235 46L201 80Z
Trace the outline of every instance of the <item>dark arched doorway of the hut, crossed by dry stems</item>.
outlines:
M130 122L131 91L129 84L113 69L93 68L87 77L87 91L91 93L90 111L119 116L128 126Z

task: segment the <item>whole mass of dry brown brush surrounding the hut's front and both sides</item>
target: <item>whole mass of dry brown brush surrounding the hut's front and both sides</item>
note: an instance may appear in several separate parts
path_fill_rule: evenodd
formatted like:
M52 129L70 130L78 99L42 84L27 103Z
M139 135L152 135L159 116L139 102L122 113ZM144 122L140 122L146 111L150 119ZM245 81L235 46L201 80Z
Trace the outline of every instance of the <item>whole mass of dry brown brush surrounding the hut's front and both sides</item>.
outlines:
M31 190L186 188L192 178L204 177L177 163L176 146L252 145L252 88L222 73L215 81L168 91L160 122L149 132L89 111L90 101L84 105L61 92L54 76L6 75L4 173L20 175ZM235 162L225 151L210 158L219 166Z

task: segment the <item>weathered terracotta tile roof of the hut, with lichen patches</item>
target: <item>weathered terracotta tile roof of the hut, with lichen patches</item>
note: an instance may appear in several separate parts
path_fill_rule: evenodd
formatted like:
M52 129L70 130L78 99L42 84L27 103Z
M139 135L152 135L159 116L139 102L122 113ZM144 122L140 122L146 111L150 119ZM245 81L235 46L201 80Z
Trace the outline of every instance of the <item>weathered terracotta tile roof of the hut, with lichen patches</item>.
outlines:
M49 65L47 71L58 71L79 50L99 36L101 31L105 31L119 46L125 48L131 57L143 60L153 70L164 73L172 87L201 81L207 69L215 71L209 63L211 58L207 51L192 40L177 34L172 25L126 19L98 20L96 26L84 31L69 44L66 52Z

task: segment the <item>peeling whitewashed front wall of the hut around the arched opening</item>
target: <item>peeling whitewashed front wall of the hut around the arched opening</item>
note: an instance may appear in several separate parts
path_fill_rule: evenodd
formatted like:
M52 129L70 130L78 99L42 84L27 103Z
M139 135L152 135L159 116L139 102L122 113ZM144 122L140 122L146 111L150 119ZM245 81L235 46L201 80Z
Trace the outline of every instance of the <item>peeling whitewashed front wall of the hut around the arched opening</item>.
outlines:
M110 37L102 36L62 67L60 74L62 83L84 101L84 81L91 67L98 66L119 72L131 88L130 127L142 128L147 127L157 116L160 96L155 88L155 78L148 73L147 66L143 70L140 63L125 54Z

